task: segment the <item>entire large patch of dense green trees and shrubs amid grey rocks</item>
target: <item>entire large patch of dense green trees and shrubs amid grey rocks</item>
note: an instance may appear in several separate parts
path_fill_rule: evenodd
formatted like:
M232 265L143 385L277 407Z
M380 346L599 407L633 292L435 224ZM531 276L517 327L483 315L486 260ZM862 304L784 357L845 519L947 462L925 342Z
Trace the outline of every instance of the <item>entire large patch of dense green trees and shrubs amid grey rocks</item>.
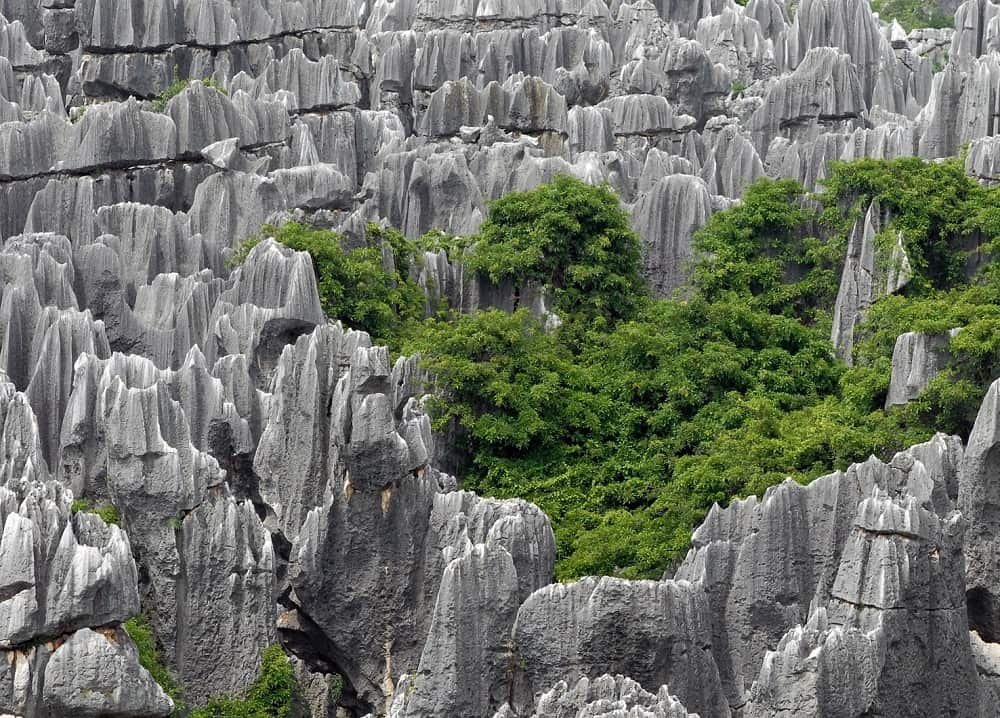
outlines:
M877 245L902 232L914 276L868 312L849 368L831 353L831 312L847 236L872 200L892 217ZM526 309L444 311L401 316L381 336L419 352L435 377L432 411L464 450L464 485L550 516L560 578L656 576L712 502L888 459L934 430L968 432L1000 374L1000 279L966 248L993 251L998 200L958 160L837 164L814 197L762 180L698 233L682 296L653 299L610 190L560 178L494 203L464 241L376 236L391 246L392 286L409 287L408 254L461 251L494 281L546 285L558 329ZM883 410L896 337L958 326L923 396Z

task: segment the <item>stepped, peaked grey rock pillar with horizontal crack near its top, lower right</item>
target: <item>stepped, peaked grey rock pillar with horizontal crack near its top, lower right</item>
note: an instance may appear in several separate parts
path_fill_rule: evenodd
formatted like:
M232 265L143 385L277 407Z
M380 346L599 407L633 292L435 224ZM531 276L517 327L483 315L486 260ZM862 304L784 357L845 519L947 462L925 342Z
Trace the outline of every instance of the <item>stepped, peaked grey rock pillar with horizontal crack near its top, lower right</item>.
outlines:
M876 490L863 500L828 607L764 658L748 714L979 714L986 706L967 639L964 528L959 514L938 518L910 496ZM949 660L937 664L942 653ZM941 682L900 681L917 666Z

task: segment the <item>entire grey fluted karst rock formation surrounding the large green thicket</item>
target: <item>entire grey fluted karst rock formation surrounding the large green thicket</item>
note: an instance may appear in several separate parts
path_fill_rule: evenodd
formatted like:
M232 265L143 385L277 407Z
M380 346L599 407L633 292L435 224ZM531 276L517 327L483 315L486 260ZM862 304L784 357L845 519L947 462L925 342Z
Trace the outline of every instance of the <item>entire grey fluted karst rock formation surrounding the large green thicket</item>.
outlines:
M716 507L662 580L556 584L546 516L458 490L419 366L329 322L307 254L227 261L283 218L471 233L568 173L667 294L759 177L967 147L1000 180L1000 5L792 5L0 0L0 714L169 715L142 606L192 704L280 642L354 716L1000 716L1000 384L967 445ZM908 279L887 221L850 237L847 359ZM429 304L504 306L423 259ZM900 337L889 403L946 346Z

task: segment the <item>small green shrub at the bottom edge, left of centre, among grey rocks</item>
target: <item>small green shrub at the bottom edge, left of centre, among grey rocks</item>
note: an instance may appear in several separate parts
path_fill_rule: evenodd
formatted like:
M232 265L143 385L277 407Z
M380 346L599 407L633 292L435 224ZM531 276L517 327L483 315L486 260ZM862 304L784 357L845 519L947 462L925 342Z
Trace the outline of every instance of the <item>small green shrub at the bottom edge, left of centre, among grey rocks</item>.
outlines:
M260 675L245 698L216 696L190 718L289 718L298 682L281 646L268 646L260 655Z

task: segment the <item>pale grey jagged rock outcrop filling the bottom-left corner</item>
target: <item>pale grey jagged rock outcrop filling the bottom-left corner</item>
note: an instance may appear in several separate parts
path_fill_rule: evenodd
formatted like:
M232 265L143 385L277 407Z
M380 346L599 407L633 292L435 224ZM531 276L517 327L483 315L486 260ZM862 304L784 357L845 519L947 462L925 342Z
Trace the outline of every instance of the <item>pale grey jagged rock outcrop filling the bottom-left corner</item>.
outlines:
M72 493L48 473L27 397L0 379L0 710L166 716L172 701L121 628L139 612L129 538L71 510Z

